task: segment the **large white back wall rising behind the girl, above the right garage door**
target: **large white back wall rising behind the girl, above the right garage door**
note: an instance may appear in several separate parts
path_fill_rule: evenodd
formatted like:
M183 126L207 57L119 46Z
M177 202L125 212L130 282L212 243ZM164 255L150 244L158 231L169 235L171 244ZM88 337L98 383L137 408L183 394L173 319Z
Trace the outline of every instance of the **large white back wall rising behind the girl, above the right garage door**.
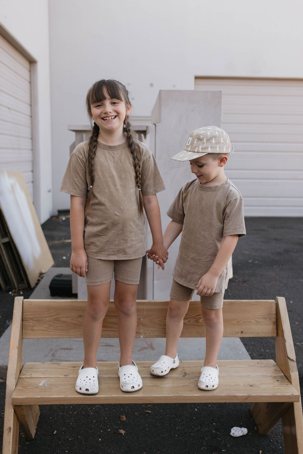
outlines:
M194 76L302 78L303 3L290 0L50 0L54 209L74 134L95 80L115 78L133 113L150 115L160 89L194 89Z

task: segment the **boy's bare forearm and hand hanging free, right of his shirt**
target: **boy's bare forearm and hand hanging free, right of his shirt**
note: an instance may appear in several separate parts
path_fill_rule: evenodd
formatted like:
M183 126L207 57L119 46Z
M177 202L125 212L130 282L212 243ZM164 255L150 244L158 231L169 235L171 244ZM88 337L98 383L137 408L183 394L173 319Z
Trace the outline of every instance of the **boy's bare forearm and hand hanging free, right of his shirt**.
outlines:
M228 235L227 237L223 238L223 242L219 247L218 254L214 259L214 263L209 268L209 271L204 274L204 276L202 276L198 282L197 295L213 295L218 278L224 270L224 267L226 266L228 260L230 259L233 250L236 247L237 241L238 235Z

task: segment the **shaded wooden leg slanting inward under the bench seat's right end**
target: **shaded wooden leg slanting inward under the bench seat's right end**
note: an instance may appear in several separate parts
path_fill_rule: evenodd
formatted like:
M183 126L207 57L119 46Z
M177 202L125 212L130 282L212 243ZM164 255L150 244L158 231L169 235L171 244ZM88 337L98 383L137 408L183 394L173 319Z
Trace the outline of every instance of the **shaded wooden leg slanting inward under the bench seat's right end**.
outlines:
M268 435L292 402L254 402L250 408L261 435Z

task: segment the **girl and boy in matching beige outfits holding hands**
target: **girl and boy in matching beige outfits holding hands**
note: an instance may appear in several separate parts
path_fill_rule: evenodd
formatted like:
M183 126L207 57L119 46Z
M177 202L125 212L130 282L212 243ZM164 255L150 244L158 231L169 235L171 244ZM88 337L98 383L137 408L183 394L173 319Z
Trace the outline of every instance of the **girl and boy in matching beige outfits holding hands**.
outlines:
M88 290L84 362L76 391L96 394L99 390L96 355L113 276L120 388L133 392L142 387L132 350L145 255L143 210L153 237L148 258L158 267L164 268L167 250L182 232L170 291L165 354L150 372L162 376L179 365L177 344L189 301L197 290L206 326L206 355L198 386L214 390L219 383L216 361L223 336L229 259L238 237L245 235L243 199L224 174L231 152L228 135L214 126L196 129L184 150L172 157L189 162L196 178L181 188L169 208L172 221L162 236L156 193L165 187L152 153L138 141L129 123L132 106L127 89L116 80L102 79L89 89L86 104L92 134L72 153L60 188L71 196L70 268L85 276Z

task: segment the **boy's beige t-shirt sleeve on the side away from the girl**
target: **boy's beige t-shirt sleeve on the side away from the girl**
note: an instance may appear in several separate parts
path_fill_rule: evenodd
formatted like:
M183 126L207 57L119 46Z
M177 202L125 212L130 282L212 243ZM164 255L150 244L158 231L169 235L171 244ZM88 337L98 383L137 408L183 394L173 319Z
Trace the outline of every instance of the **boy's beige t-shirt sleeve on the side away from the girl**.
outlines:
M243 237L246 235L244 214L243 214L243 198L238 197L231 200L225 207L223 236L238 235Z

